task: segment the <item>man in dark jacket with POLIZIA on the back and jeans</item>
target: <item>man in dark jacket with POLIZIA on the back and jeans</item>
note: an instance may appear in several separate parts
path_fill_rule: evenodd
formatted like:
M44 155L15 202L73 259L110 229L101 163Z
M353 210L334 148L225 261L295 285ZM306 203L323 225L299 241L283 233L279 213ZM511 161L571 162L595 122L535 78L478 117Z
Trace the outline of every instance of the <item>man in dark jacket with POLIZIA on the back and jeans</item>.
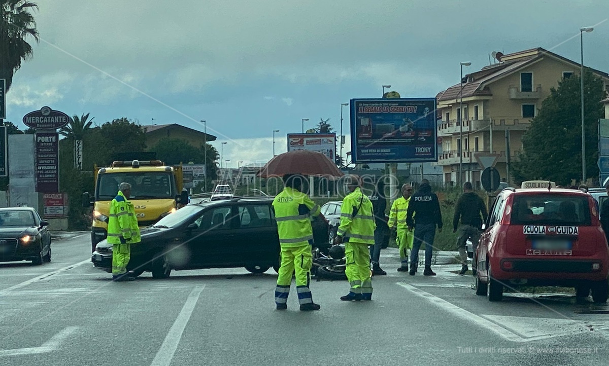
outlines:
M414 216L414 217L413 217ZM410 272L415 275L418 266L418 251L421 244L425 243L425 270L423 275L435 276L431 270L431 257L434 254L435 227L442 232L442 213L438 196L431 192L431 185L427 179L421 180L417 193L412 195L406 213L406 225L408 230L414 227L414 242L410 252Z

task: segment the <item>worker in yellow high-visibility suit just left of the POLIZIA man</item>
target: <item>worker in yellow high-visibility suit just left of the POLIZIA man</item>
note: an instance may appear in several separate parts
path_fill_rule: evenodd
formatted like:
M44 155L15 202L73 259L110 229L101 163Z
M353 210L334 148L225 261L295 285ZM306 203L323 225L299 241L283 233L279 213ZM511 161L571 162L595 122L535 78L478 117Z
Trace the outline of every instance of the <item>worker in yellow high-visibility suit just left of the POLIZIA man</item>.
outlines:
M398 272L408 272L408 258L412 249L412 241L415 238L406 225L406 213L408 212L411 195L412 185L404 184L402 186L402 196L393 201L389 212L389 230L396 232L395 241L400 247L401 266L398 268Z

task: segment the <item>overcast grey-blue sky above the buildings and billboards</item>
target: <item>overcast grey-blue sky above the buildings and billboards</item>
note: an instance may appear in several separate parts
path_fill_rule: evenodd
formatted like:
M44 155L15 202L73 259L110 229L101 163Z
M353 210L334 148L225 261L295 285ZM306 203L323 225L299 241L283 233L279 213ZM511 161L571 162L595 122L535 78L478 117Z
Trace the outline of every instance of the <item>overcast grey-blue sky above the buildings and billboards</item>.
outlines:
M340 103L434 97L488 54L544 47L609 71L607 0L35 0L41 42L7 94L8 120L44 105L97 123L179 123L218 137L229 166L286 151L286 133ZM345 108L343 129L348 126ZM348 133L345 133L348 134ZM252 140L253 139L253 140ZM347 147L345 151L349 151Z

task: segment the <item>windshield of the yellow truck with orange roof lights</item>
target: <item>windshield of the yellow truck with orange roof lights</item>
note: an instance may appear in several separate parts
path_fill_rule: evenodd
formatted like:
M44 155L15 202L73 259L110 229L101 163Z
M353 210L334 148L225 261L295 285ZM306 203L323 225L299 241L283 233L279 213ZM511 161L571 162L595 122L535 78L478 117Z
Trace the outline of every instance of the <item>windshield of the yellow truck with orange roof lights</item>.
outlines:
M95 191L96 199L113 199L118 192L118 185L122 182L131 184L130 199L174 198L177 194L171 173L164 171L130 171L99 174Z

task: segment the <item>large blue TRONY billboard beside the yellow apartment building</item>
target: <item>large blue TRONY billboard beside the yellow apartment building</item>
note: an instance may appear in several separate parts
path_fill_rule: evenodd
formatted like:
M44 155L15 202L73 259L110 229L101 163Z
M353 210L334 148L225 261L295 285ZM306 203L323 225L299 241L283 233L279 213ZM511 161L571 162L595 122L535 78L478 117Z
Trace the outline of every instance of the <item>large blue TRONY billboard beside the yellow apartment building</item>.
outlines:
M351 99L354 163L438 161L435 98Z

